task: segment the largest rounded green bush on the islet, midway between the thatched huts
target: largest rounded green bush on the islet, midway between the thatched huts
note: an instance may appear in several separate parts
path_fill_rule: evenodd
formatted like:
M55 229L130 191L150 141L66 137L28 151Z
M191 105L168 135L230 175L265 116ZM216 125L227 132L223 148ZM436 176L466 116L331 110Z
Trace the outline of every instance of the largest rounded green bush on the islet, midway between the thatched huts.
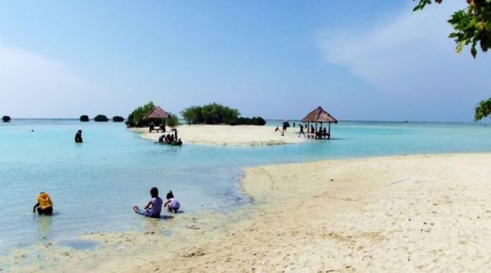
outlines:
M181 116L188 124L232 124L240 114L237 109L216 102L202 107L188 107L181 111Z

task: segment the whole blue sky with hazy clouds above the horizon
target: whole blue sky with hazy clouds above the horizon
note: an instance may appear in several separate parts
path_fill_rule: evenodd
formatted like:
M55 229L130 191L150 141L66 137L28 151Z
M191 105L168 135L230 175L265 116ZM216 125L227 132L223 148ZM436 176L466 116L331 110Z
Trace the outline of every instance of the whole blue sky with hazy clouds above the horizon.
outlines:
M179 114L473 121L491 54L456 54L443 1L0 0L0 115Z

